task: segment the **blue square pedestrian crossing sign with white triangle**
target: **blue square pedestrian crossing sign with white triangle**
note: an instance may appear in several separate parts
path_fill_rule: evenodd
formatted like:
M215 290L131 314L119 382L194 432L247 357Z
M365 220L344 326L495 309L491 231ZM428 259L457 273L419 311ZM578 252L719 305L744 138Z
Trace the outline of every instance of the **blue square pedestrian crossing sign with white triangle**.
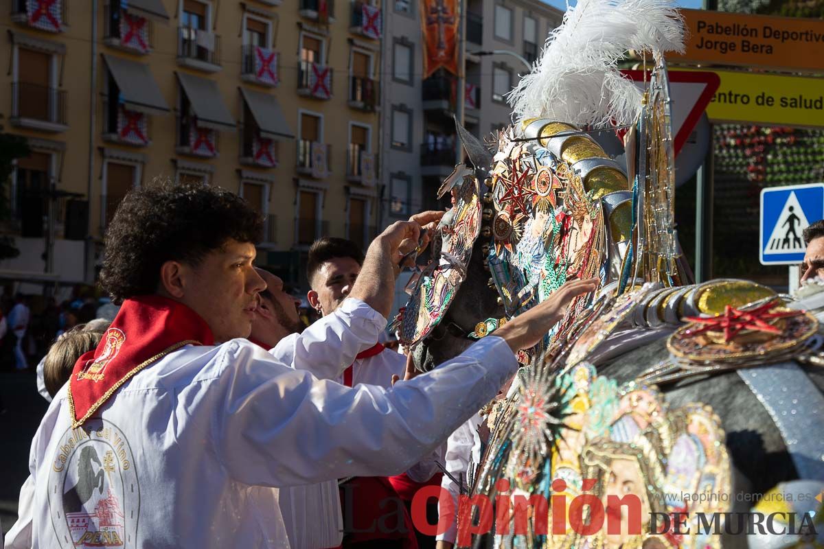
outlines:
M794 265L804 258L802 231L824 219L824 183L761 190L762 265Z

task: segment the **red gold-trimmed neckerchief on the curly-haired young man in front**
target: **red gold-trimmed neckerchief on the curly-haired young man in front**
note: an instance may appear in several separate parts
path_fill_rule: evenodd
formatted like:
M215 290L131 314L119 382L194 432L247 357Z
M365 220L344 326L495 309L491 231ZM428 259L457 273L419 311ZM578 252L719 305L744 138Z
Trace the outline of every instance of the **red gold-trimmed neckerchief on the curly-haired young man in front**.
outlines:
M125 300L96 350L77 359L68 379L72 428L82 425L138 371L190 343L214 345L214 336L186 305L161 295Z

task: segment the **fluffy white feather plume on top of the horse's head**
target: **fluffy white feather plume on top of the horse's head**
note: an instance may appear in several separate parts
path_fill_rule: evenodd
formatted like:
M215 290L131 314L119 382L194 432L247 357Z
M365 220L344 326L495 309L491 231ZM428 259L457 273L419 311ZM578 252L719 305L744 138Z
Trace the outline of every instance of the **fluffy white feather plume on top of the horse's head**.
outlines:
M617 66L630 49L683 52L683 21L670 0L578 0L532 72L508 94L513 119L596 128L633 123L641 92Z

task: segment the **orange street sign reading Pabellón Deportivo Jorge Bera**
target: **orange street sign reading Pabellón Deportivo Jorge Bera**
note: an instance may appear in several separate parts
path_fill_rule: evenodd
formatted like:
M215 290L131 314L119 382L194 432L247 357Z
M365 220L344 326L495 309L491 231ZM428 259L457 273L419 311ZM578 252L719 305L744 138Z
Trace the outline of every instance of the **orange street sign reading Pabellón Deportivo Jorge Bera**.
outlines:
M801 17L681 10L686 52L667 54L683 63L768 67L787 72L824 70L824 21Z

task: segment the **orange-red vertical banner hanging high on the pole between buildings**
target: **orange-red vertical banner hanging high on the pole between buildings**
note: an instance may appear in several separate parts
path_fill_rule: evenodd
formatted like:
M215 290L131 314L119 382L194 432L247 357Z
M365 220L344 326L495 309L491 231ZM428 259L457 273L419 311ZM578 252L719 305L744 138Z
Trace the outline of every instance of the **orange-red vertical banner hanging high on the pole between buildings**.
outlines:
M439 67L458 73L458 0L421 0L421 32L424 36L424 78Z

